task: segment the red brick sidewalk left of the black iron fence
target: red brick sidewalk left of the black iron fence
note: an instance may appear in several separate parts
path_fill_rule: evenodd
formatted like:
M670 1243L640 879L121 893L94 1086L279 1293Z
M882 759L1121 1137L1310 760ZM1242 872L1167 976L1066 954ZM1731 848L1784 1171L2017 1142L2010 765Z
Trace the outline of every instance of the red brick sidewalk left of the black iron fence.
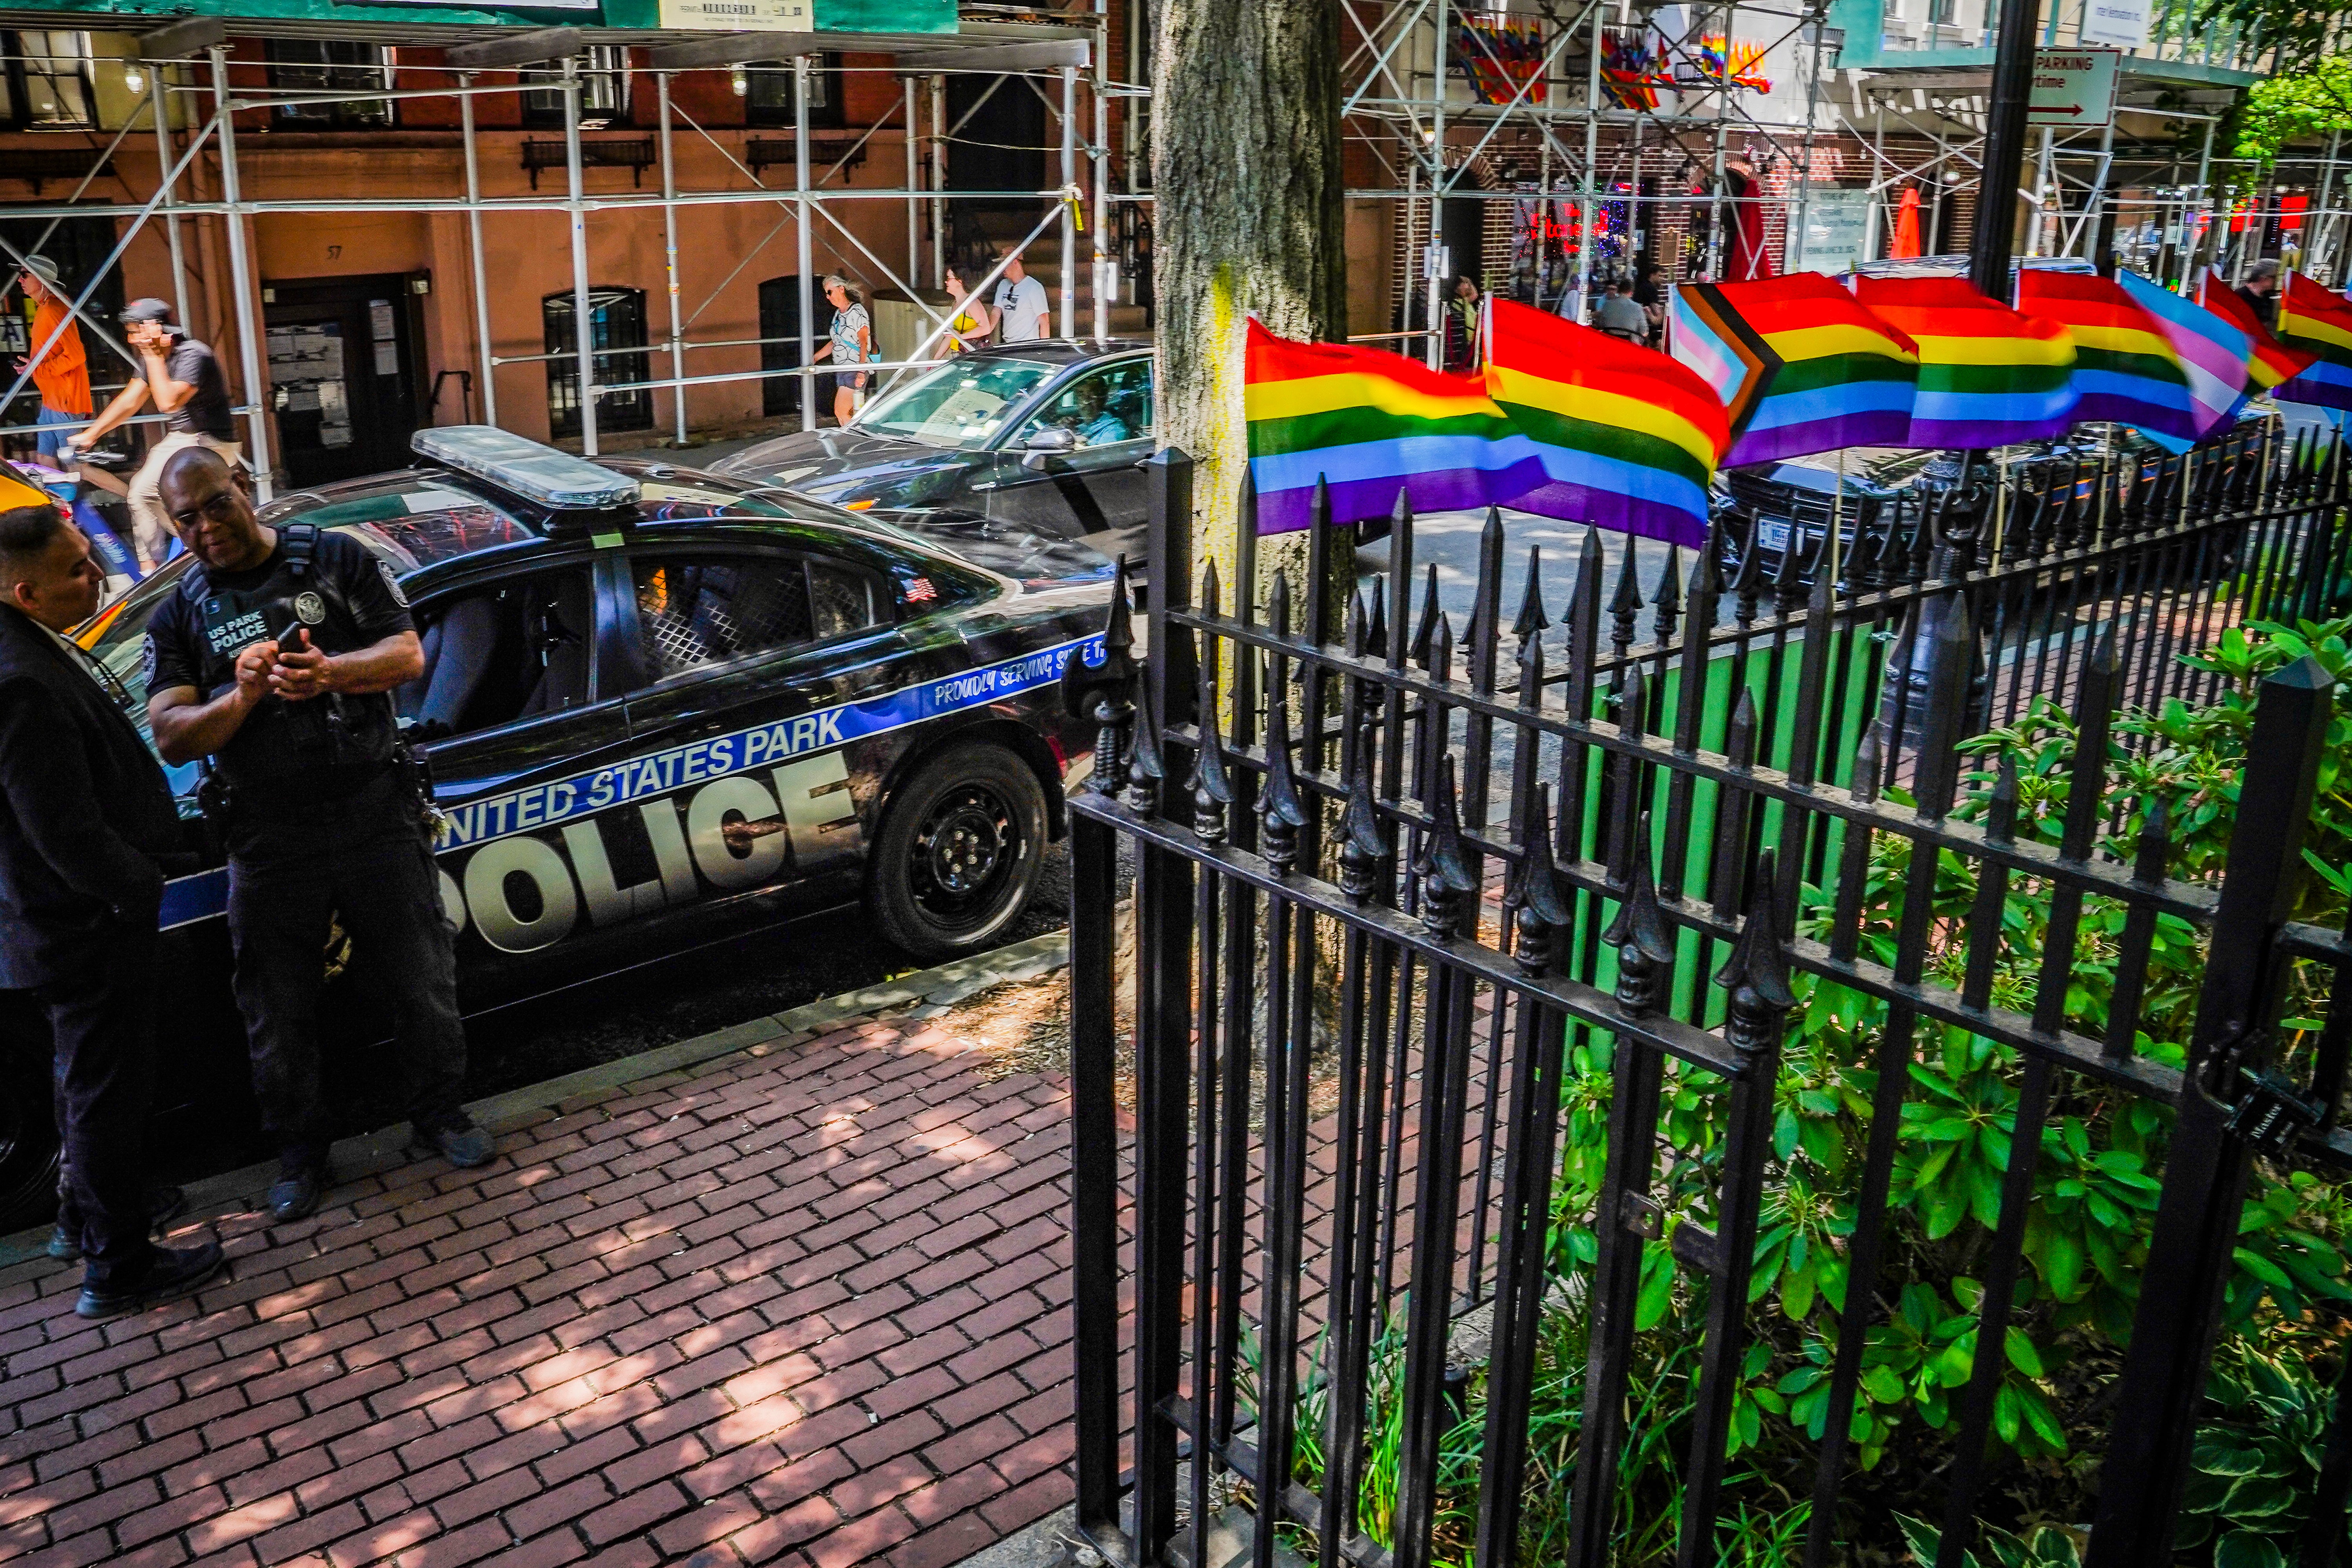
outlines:
M113 1324L0 1272L0 1561L936 1568L1070 1497L1068 1086L866 1018L520 1117Z

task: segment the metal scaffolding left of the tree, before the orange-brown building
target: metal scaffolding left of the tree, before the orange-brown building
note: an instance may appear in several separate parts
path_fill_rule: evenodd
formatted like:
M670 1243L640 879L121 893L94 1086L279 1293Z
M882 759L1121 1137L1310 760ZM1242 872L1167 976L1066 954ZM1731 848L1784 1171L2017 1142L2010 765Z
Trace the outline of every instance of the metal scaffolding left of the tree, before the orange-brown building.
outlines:
M572 357L576 362L574 386L579 395L581 411L581 449L588 456L597 454L597 400L614 397L623 393L670 393L675 440L687 444L687 400L684 390L689 386L710 386L727 381L767 381L776 376L800 378L800 416L802 428L814 428L816 423L816 376L818 362L816 353L816 301L814 301L814 249L818 226L828 233L826 249L835 254L856 254L870 275L882 284L901 292L927 320L927 329L913 350L903 360L868 362L868 371L903 371L927 364L936 364L934 353L941 343L950 315L931 306L924 294L924 277L936 287L941 270L948 263L946 230L950 207L960 202L1021 202L1037 200L1044 202L1044 216L1023 237L1004 247L1004 256L997 259L978 280L974 280L969 294L983 299L985 292L997 282L1007 261L1023 247L1033 244L1049 228L1058 230L1061 240L1061 280L1058 280L1058 324L1063 336L1077 336L1077 256L1075 242L1080 226L1089 237L1089 294L1091 294L1091 336L1110 334L1110 310L1112 294L1117 292L1117 261L1108 249L1108 233L1112 219L1112 205L1122 200L1148 200L1131 190L1112 190L1115 167L1120 162L1120 148L1110 146L1110 103L1117 99L1138 101L1145 99L1145 87L1136 82L1120 82L1110 75L1110 42L1108 38L1108 9L1105 0L1077 0L1082 9L1073 9L1051 24L1002 24L1002 21L967 21L960 33L908 33L908 35L880 35L880 33L677 33L677 31L607 31L607 28L539 28L539 31L496 31L477 26L430 26L419 35L421 28L412 28L393 38L383 24L278 24L278 21L238 21L238 38L339 38L358 42L430 42L449 45L445 49L442 63L416 66L407 61L388 63L383 71L383 85L374 87L332 87L332 89L292 89L292 87L268 87L261 92L235 92L230 87L230 47L228 28L216 19L191 19L179 21L167 28L141 35L136 61L148 71L151 89L146 99L146 118L153 120L155 148L158 148L158 188L139 207L129 205L96 205L82 202L80 197L89 188L89 179L82 188L73 193L73 200L47 202L47 205L12 205L5 209L9 219L89 219L89 216L113 216L120 221L120 235L106 263L85 282L80 294L71 301L71 317L82 324L85 331L99 334L99 339L125 362L132 355L115 343L113 334L92 315L89 301L99 289L99 280L120 266L122 254L129 249L132 240L151 223L162 223L167 249L169 249L169 296L179 310L179 320L188 320L188 261L183 244L183 226L191 221L219 219L226 230L226 254L230 273L230 301L233 320L238 334L238 364L242 374L242 386L247 388L247 402L235 409L245 418L249 435L249 454L261 487L261 496L270 494L270 423L263 418L263 409L270 402L270 390L263 378L261 360L261 322L256 315L259 280L254 275L254 259L247 247L247 223L273 214L369 214L369 212L397 212L397 214L421 214L421 212L461 212L466 214L466 249L473 284L473 331L477 339L477 362L482 381L482 414L489 423L496 423L496 376L501 364L520 362L546 362L555 357ZM103 24L101 14L82 14L82 26ZM129 19L125 19L129 21ZM583 179L583 143L581 143L581 120L583 120L583 87L586 78L581 73L581 52L595 45L637 45L644 47L644 71L654 78L654 103L656 122L654 136L659 146L661 165L661 188L659 193L597 193L590 195ZM844 66L842 73L851 75L856 71L889 73L901 80L896 94L896 106L889 115L877 118L863 129L856 141L833 160L830 167L818 167L811 160L811 134L809 134L809 78L811 61L828 52L854 52L854 54L889 54L889 66ZM708 127L699 125L687 115L673 99L675 78L691 71L720 71L741 73L750 61L783 61L793 73L793 183L769 186L760 174L736 158L736 153L720 141ZM513 82L482 82L480 75L487 71L553 71L553 80L529 80L517 75ZM449 75L456 73L454 85L419 85L421 75ZM948 162L946 150L962 122L948 120L948 94L946 82L950 75L976 73L997 78L990 92L1007 87L1011 82L1023 82L1033 87L1044 99L1047 113L1058 120L1058 165L1056 183L1037 190L950 190L948 188ZM407 82L402 80L407 78ZM1051 85L1054 92L1047 92ZM477 118L475 101L494 94L522 94L522 92L557 92L562 101L562 143L564 143L564 188L562 193L532 193L532 195L485 195L480 179L480 143L477 143ZM459 108L459 132L463 148L463 195L430 197L430 195L395 195L395 197L343 197L343 195L320 195L320 197L273 197L254 200L240 188L238 174L238 129L235 115L240 110L256 108L280 108L280 106L320 106L320 103L348 103L348 101L397 101L397 99L454 99ZM176 115L172 113L176 106ZM969 120L967 110L967 120ZM174 118L179 125L174 125ZM125 118L125 125L115 134L113 143L99 153L92 162L92 176L106 167L108 158L125 146L139 115ZM1091 120L1089 129L1082 129ZM710 148L720 153L731 174L741 176L741 186L687 190L677 181L675 139L680 134L680 122L689 136L699 136ZM861 158L863 148L882 129L896 127L903 132L906 141L906 179L898 186L847 186L833 183ZM198 155L212 146L219 165L219 195L200 197L193 190L183 190L188 172ZM929 150L929 158L922 153ZM1049 148L1042 148L1049 150ZM842 221L844 205L849 202L903 202L908 214L908 249L906 259L884 259L875 247L866 244L849 223ZM680 287L677 266L677 214L684 207L706 205L764 205L779 207L781 216L767 237L746 252L736 268L703 299L701 306L687 308ZM590 331L590 268L588 268L588 223L590 214L607 221L612 214L661 214L663 226L663 259L666 259L666 287L668 296L668 331L659 343L647 343L642 350L630 353L666 353L668 374L637 381L604 381L595 378L595 360L612 357L614 350L597 350ZM485 244L485 219L513 216L513 214L564 214L569 230L569 270L572 270L572 310L574 310L574 348L567 355L496 355L492 350L492 315L489 315L489 289L487 268L489 252ZM920 244L920 219L929 216L929 254ZM795 254L797 254L797 287L800 287L800 331L797 350L800 364L788 369L741 369L741 371L713 371L713 374L689 374L687 355L710 348L746 348L764 346L779 339L708 339L696 341L689 336L696 317L708 310L720 294L741 275L743 266L786 226L795 230ZM847 247L847 249L844 249ZM0 240L0 249L7 249L12 261L21 261L24 254ZM924 266L929 261L929 266ZM64 327L59 327L64 331ZM54 339L54 334L52 334ZM781 339L793 341L793 339ZM33 360L47 343L33 346ZM26 386L31 369L14 376L9 390L0 395L0 407L12 402ZM28 430L28 425L0 428L0 433Z

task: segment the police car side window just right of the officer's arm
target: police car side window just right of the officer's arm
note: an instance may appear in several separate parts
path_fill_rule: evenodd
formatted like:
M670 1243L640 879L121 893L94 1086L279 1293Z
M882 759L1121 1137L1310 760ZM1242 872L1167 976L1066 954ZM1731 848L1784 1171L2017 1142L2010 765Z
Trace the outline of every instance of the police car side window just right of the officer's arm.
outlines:
M510 578L416 614L426 672L393 701L421 741L583 708L595 595L588 567Z

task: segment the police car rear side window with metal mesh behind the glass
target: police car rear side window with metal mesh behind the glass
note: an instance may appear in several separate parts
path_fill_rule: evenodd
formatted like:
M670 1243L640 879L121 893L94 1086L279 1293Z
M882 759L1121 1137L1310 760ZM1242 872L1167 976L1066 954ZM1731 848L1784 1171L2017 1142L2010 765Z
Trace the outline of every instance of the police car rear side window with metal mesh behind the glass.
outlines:
M788 555L642 555L633 564L647 675L837 637L877 618L866 578Z

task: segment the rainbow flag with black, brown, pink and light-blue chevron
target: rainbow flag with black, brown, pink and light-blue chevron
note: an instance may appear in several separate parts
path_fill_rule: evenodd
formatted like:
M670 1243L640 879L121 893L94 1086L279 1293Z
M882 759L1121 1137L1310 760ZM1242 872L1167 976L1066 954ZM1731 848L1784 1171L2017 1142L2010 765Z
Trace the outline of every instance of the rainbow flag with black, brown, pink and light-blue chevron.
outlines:
M1724 465L1839 447L1900 447L1919 353L1820 273L1675 289L1675 360L1715 388Z

